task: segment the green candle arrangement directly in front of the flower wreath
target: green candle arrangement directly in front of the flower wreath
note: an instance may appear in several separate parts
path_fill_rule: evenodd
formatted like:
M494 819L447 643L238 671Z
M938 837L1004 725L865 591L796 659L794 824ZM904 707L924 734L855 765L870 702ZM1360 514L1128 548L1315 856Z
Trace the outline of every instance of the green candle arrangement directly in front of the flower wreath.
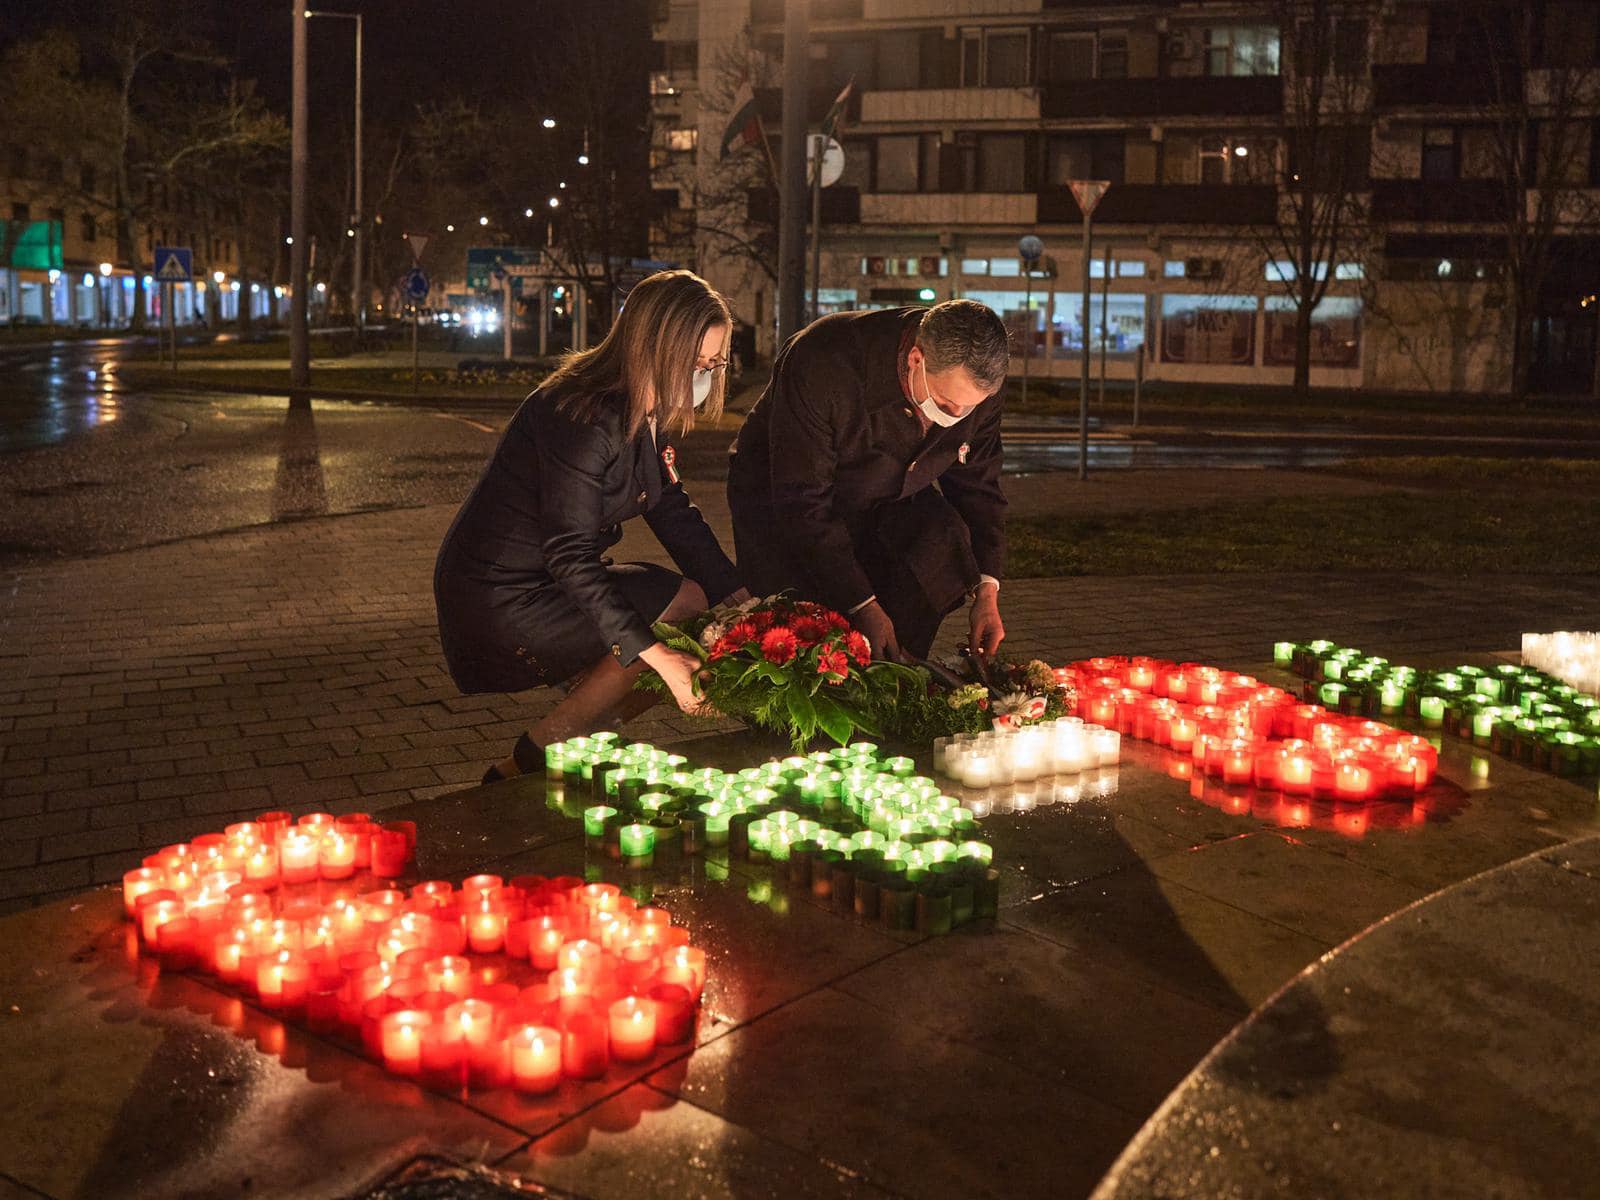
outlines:
M552 803L626 867L707 851L779 864L840 910L947 933L995 915L1000 877L974 811L915 770L870 742L741 771L696 770L611 733L546 749Z

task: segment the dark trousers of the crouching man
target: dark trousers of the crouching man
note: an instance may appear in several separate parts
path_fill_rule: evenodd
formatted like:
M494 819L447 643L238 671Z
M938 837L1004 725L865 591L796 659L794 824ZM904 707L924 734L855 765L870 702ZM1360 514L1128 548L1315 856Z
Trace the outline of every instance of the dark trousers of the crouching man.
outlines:
M730 490L733 547L739 574L755 595L794 592L821 600L822 589L784 541L782 523L765 499ZM933 488L845 518L856 562L894 622L901 646L928 658L939 624L962 606L978 582L966 522Z

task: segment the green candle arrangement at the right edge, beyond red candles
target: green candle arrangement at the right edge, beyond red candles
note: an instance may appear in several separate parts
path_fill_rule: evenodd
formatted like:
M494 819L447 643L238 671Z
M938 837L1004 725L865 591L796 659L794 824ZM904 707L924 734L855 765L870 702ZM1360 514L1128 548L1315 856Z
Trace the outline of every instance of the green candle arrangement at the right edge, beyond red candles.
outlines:
M1280 642L1274 659L1341 712L1403 715L1558 776L1600 773L1600 699L1530 666L1418 670L1333 642Z

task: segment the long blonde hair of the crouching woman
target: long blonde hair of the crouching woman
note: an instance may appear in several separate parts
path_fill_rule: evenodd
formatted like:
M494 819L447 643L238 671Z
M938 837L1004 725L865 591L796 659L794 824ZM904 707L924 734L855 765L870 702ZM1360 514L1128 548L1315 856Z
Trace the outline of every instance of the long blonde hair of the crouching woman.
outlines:
M645 424L654 398L656 424L688 432L694 427L694 363L714 325L733 328L728 301L693 270L658 270L634 285L616 323L598 346L566 354L542 389L574 421L592 421L600 397L627 395L627 435ZM701 410L722 414L726 371L712 376Z

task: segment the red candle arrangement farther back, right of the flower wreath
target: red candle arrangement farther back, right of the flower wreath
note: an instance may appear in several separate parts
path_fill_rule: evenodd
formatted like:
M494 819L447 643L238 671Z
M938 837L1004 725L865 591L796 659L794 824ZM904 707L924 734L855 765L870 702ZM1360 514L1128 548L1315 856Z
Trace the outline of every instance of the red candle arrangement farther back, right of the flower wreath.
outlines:
M1093 720L1187 754L1192 774L1226 784L1371 802L1416 795L1438 766L1424 738L1302 702L1250 675L1150 658L1093 658L1059 670Z

